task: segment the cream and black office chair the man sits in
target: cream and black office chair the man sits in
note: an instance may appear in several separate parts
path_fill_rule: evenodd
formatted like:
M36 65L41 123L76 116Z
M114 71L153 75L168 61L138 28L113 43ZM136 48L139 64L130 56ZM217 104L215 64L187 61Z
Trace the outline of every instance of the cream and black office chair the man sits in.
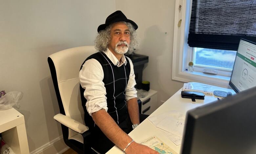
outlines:
M64 142L79 154L91 153L90 131L84 123L84 110L79 91L79 70L84 60L97 50L83 46L62 50L48 57L60 114L54 119L61 124Z

